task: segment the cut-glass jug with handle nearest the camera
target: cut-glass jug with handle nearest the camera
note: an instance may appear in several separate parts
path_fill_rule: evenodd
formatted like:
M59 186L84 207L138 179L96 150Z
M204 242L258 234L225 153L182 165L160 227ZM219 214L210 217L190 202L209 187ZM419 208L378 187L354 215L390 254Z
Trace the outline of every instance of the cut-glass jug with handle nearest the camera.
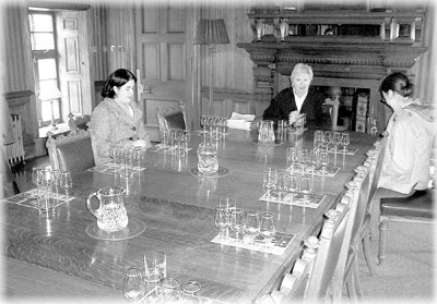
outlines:
M98 208L92 206L92 198L98 200ZM103 187L88 195L86 208L97 218L97 227L107 232L125 229L129 219L125 207L125 190L122 187Z

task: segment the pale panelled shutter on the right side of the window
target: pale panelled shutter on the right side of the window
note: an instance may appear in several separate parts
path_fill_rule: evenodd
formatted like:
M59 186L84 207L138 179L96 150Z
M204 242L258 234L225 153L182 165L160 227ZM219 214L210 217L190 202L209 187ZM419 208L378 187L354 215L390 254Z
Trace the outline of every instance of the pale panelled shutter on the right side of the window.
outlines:
M92 111L85 14L84 11L63 11L56 17L63 121L68 121L70 112L82 115Z

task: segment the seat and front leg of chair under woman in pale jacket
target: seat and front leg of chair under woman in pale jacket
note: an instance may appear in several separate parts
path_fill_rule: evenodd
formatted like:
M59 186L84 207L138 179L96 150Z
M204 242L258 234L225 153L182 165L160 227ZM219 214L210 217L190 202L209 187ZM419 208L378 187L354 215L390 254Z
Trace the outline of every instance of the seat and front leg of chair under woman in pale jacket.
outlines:
M386 238L389 221L428 222L433 223L436 217L436 190L416 191L409 197L381 198L379 216L379 264L382 264L386 254ZM405 248L406 250L406 248Z

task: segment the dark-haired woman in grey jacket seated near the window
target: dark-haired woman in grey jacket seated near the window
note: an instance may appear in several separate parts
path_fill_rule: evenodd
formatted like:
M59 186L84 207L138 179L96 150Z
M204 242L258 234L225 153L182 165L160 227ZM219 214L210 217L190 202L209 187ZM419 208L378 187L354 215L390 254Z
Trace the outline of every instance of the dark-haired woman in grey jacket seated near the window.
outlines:
M149 147L143 112L134 101L137 77L126 69L113 72L102 89L104 100L91 114L93 145L99 165L109 160L109 146Z

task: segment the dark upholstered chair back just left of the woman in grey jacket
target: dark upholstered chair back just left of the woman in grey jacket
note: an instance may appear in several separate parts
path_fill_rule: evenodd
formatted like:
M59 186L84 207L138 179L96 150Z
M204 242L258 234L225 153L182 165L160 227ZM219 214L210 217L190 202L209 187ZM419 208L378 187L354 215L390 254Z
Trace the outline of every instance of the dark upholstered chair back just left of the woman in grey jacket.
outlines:
M60 171L79 172L95 166L90 136L60 143L57 145L56 153Z

